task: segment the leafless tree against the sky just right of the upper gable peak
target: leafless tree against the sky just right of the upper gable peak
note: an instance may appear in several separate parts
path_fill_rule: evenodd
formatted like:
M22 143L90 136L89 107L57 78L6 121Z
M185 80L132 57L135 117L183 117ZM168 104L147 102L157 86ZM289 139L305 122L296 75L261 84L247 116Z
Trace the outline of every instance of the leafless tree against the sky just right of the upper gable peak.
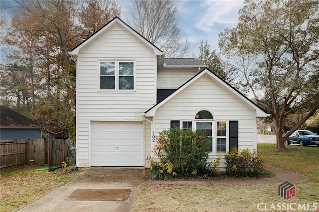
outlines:
M187 40L181 42L174 0L134 0L133 4L133 20L129 21L130 25L164 51L165 57L185 56L189 44Z

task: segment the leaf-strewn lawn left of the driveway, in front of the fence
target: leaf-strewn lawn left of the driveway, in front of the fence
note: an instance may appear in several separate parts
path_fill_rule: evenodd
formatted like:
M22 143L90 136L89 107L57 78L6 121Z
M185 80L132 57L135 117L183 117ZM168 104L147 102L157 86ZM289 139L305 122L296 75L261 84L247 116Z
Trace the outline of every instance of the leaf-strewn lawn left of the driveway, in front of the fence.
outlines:
M24 164L8 167L0 172L1 212L18 211L65 185L79 174L79 172L66 174L63 168L52 172L34 171L40 167L43 165Z

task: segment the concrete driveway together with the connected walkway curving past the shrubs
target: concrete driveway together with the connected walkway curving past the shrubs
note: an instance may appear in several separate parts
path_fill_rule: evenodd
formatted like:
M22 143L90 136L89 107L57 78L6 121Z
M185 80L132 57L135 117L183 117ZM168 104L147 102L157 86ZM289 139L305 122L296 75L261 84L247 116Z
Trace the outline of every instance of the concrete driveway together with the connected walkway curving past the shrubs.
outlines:
M306 181L306 176L286 171L273 166L267 170L275 173L274 178L264 179L209 179L209 180L173 180L149 181L143 180L143 168L87 168L79 176L65 186L49 193L38 201L21 209L20 212L131 212L138 190L142 184L281 184L285 181L297 183ZM78 201L70 200L76 190L129 189L130 196L125 201ZM89 197L90 198L90 197Z

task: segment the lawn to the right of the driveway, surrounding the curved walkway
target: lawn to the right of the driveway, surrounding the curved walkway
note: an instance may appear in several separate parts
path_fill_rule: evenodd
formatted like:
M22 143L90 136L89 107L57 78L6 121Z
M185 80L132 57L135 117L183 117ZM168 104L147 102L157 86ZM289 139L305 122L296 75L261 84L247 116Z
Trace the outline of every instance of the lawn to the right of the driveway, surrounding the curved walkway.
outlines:
M284 200L278 196L278 184L267 185L145 185L138 192L134 212L215 212L258 211L271 204L316 204L319 210L319 147L287 146L260 143L258 153L267 164L306 175L309 180L296 183L296 196ZM295 205L294 205L295 206ZM310 208L315 209L315 208ZM265 210L264 210L265 211ZM306 211L306 210L302 210ZM316 211L316 210L315 210Z

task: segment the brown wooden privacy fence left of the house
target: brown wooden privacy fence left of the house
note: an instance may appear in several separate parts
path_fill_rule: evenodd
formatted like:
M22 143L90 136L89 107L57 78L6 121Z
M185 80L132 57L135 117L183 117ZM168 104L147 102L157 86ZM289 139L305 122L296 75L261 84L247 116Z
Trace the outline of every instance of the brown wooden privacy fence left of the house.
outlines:
M26 164L30 160L48 166L60 165L70 157L69 139L0 140L0 168Z

